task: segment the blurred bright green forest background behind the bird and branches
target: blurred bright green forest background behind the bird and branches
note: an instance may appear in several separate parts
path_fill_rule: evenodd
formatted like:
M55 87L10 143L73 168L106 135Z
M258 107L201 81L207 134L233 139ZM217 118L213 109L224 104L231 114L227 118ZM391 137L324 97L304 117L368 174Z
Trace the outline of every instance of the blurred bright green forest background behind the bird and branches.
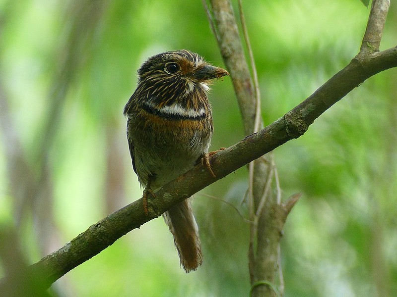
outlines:
M381 49L396 46L393 4ZM359 0L243 5L265 124L356 55L369 14ZM122 111L139 65L173 49L223 66L201 1L0 0L0 246L17 243L0 277L13 257L34 263L141 197ZM396 80L396 69L370 78L275 149L283 198L303 194L281 241L285 296L397 292ZM212 149L243 139L230 78L210 99ZM158 218L67 273L51 295L248 296L247 177L242 168L195 196L198 271L180 268Z

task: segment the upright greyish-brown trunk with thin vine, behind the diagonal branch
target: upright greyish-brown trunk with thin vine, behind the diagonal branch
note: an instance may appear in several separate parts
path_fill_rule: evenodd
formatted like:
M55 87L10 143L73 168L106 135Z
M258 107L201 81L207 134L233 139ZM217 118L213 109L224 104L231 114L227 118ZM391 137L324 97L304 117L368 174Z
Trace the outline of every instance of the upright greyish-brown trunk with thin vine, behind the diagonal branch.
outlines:
M240 21L244 40L249 53L252 76L242 41L239 36L237 20L234 16L230 0L211 0L211 7L216 21L218 47L224 63L231 74L237 101L239 103L244 131L246 135L258 132L263 128L261 115L261 99L254 54L251 49L248 30L245 23L241 0L238 1ZM208 14L208 13L207 13ZM215 25L212 25L215 27ZM279 254L280 229L285 219L283 216L273 215L278 208L279 193L273 190L276 172L272 152L256 159L249 164L248 209L250 216L250 241L248 248L248 267L250 281L253 286L253 296L270 293L268 286L254 284L273 283L277 269L282 276L281 268L277 265ZM279 188L275 188L279 190ZM274 228L277 226L277 228Z

